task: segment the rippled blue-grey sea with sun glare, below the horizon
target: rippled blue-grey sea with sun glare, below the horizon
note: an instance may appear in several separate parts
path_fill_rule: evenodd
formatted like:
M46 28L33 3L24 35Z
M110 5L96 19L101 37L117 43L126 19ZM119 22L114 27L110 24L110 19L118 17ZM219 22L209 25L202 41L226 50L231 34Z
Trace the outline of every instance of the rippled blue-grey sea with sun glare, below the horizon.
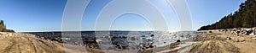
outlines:
M157 47L170 45L177 40L186 40L191 35L199 34L198 31L71 31L65 33L72 36L73 34L78 34L77 32L80 32L82 40L101 39L103 42L106 41L102 45L140 45L142 43L153 43ZM63 34L61 31L31 32L30 34L60 40L71 38L61 37L61 34Z

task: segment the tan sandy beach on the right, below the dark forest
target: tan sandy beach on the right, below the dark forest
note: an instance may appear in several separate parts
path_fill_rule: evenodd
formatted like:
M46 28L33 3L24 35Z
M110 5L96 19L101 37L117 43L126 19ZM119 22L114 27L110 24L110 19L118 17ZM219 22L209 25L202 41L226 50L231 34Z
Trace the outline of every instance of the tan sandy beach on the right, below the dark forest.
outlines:
M212 33L209 33L212 31ZM189 40L183 40L183 42L189 42L190 44L173 45L174 48L170 48L169 53L256 53L256 40L253 39L253 35L239 35L225 32L219 32L218 30L205 30L205 34L195 35ZM230 37L230 40L227 40ZM184 46L189 45L189 46ZM178 48L178 49L176 49ZM173 50L176 49L176 50ZM166 51L167 52L167 51Z

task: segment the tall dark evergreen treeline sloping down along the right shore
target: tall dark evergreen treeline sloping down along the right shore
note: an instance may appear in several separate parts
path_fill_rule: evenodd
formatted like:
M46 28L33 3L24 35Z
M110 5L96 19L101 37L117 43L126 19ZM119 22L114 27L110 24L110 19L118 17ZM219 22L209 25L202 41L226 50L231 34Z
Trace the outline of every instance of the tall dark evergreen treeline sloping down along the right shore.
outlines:
M202 26L199 30L256 27L256 0L247 0L239 7L235 13L224 16L215 24Z

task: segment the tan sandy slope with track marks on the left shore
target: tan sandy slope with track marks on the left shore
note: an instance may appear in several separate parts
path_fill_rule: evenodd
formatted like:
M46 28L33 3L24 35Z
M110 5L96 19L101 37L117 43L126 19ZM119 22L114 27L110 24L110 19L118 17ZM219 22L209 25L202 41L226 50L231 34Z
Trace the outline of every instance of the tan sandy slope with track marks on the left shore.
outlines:
M72 48L74 45L69 45ZM67 52L79 52L65 48ZM33 34L0 32L0 53L64 53L61 43L42 40Z

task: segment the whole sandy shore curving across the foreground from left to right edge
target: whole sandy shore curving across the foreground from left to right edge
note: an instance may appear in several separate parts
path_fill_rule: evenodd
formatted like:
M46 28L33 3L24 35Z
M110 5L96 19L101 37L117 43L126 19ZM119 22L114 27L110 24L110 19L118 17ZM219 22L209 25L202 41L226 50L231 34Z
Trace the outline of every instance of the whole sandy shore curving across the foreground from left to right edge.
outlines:
M240 33L237 33L240 31ZM254 34L254 35L253 35ZM149 35L154 36L154 35ZM201 30L201 34L192 35L187 40L180 40L170 45L154 47L156 49L134 50L136 53L255 53L256 49L255 29L214 29ZM83 52L72 48L84 47L88 53L111 53L129 52L131 50L101 50L96 44L101 40L91 40L95 44L68 45L64 49L61 42L55 40L45 40L34 34L0 32L1 52ZM91 46L92 45L92 46ZM144 46L143 46L144 47ZM150 46L145 46L150 47ZM250 48L250 49L249 49ZM48 50L53 49L53 50ZM120 48L121 49L121 48Z

